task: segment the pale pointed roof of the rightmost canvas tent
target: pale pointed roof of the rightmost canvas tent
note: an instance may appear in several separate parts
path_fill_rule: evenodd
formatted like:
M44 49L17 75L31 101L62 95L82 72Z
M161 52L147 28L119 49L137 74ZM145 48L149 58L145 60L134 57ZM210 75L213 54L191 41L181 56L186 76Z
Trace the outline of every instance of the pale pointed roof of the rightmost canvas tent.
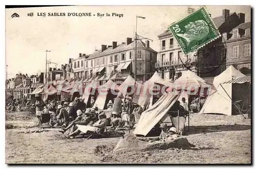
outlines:
M216 88L220 83L237 79L239 77L245 77L239 70L234 68L234 66L230 65L226 70L224 70L220 75L214 78L214 82L212 83Z

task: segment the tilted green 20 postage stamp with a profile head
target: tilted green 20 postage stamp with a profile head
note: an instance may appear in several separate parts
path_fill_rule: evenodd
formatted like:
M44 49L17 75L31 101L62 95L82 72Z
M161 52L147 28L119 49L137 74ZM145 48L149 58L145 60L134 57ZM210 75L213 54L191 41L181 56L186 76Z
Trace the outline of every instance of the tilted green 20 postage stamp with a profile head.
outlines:
M185 55L217 39L220 33L204 8L169 27Z

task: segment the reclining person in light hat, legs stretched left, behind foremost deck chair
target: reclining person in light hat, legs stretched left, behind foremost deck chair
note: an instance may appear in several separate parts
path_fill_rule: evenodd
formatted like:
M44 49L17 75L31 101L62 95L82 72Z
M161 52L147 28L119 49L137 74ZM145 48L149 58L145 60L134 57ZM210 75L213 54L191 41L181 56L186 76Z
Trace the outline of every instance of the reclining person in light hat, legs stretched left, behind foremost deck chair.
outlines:
M68 129L70 129L73 126L76 125L91 125L93 124L93 116L92 113L90 112L90 110L87 110L86 113L84 113L85 115L82 114L81 110L77 110L77 117L75 120L73 120L69 126L67 126L65 129L60 130L60 133L65 133Z

